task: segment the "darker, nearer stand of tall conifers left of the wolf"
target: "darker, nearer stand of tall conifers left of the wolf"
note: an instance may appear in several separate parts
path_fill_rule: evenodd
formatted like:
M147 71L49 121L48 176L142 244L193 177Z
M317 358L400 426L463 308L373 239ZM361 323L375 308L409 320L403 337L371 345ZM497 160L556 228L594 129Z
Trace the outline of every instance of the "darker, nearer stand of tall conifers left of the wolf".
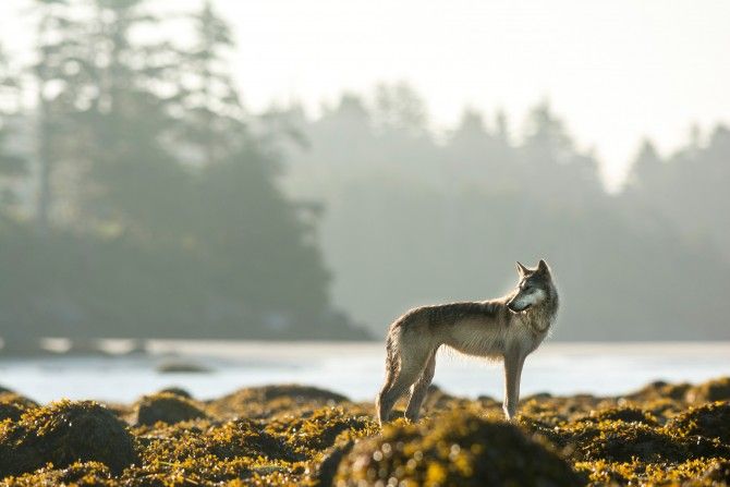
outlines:
M149 3L36 0L35 62L0 58L0 336L366 337L279 188L292 137L243 107L227 23L203 2L180 45Z

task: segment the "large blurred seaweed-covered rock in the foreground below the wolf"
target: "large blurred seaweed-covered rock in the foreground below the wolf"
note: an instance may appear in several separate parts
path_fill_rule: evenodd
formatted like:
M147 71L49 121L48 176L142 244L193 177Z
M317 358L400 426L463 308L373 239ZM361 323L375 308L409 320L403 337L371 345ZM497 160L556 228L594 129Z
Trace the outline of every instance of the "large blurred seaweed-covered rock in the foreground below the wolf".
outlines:
M518 427L454 411L417 425L387 425L340 463L338 486L374 484L577 486L557 453Z

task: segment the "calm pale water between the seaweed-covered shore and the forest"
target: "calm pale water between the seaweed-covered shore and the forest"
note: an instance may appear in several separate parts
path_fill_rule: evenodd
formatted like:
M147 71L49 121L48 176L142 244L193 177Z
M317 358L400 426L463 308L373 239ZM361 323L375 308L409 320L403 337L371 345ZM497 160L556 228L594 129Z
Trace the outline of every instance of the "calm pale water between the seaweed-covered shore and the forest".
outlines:
M133 401L168 386L200 399L268 383L307 383L369 400L384 374L378 343L154 342L149 356L1 360L0 385L37 401ZM160 374L160 363L190 361L210 374ZM523 394L620 394L662 379L698 382L730 376L730 342L546 343L527 358ZM500 397L496 364L445 353L434 382L449 392Z

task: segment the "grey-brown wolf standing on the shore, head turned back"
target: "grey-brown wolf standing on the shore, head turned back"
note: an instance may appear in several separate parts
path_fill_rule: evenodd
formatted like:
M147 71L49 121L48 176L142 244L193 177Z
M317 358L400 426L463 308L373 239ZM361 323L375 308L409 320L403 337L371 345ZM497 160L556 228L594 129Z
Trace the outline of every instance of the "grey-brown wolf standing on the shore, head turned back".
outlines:
M559 303L552 272L544 259L532 269L516 265L518 285L506 296L422 306L390 325L386 340L386 381L376 398L381 425L388 421L396 401L409 389L405 417L411 422L418 419L440 346L503 361L502 409L508 421L514 417L522 365L550 331Z

